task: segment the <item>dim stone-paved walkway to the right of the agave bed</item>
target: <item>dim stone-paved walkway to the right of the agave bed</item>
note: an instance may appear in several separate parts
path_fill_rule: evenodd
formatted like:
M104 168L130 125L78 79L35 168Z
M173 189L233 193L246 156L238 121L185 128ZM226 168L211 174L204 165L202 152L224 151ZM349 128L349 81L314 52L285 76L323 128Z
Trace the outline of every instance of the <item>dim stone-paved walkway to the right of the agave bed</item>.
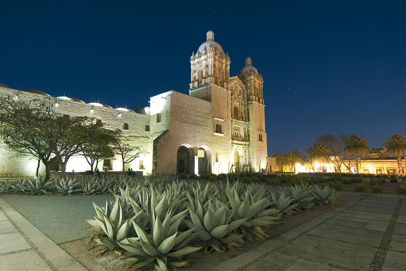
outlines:
M348 202L212 270L406 270L404 199L340 198Z

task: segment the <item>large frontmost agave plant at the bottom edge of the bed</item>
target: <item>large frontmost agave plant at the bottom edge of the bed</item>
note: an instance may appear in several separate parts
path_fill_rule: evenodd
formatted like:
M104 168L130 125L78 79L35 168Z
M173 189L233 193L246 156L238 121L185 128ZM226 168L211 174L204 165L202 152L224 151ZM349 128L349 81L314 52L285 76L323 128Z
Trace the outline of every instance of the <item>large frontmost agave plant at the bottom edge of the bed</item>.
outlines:
M161 221L159 215L153 212L152 225L148 232L131 219L138 237L126 238L118 244L135 255L124 258L123 261L132 263L135 269L155 267L157 271L166 271L167 266L186 265L187 262L177 260L201 248L185 247L197 233L193 233L194 228L178 232L178 226L186 214L172 217L171 213L172 210L168 210L165 219Z

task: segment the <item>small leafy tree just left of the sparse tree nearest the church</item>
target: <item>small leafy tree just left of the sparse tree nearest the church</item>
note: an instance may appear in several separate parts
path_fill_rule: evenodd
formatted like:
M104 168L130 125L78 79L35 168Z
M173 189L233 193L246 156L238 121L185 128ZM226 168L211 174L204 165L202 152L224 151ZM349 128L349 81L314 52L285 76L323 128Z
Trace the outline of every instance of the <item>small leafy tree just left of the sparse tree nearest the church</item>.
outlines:
M106 129L102 124L92 124L88 126L86 133L88 136L81 146L81 154L93 171L97 168L99 161L114 157L114 146L118 144L121 131Z

